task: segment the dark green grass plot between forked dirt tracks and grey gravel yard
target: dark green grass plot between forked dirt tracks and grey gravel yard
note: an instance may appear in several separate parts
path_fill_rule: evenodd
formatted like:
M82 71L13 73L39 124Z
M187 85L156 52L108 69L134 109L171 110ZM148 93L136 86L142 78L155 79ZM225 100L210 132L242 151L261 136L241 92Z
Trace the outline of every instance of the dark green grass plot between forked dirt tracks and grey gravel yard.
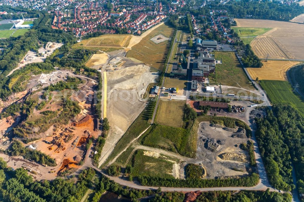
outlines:
M168 151L178 152L183 156L193 157L189 133L183 128L170 126L152 126L153 128L144 134L143 145L161 148ZM196 144L196 142L195 142Z

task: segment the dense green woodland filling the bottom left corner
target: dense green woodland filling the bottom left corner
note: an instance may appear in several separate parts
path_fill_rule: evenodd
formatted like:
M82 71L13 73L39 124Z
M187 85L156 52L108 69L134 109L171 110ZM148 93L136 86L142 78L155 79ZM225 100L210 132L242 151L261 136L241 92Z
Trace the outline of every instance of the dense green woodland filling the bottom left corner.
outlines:
M36 181L27 170L18 168L12 170L0 158L0 200L1 201L79 201L89 187L95 170L83 170L78 180L56 178L53 181Z

